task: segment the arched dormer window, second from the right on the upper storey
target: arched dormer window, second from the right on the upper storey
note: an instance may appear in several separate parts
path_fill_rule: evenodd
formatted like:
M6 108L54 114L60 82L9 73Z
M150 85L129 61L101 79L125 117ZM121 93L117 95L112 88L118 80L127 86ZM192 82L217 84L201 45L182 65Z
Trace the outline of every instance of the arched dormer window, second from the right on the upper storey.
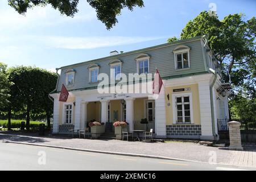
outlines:
M147 74L150 70L150 56L146 53L143 53L135 59L137 61L137 73L139 75L141 74Z

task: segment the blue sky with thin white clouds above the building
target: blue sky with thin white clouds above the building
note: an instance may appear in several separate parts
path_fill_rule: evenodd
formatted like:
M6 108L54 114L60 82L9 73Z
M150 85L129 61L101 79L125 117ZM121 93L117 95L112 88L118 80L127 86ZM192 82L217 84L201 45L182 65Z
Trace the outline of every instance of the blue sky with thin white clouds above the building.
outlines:
M109 52L166 43L179 36L190 19L215 3L220 19L228 14L255 16L256 1L170 1L144 0L142 9L125 9L119 23L106 30L86 0L80 0L74 18L61 15L51 6L35 7L26 16L19 15L0 0L0 61L9 65L35 65L54 70L64 65L109 56Z

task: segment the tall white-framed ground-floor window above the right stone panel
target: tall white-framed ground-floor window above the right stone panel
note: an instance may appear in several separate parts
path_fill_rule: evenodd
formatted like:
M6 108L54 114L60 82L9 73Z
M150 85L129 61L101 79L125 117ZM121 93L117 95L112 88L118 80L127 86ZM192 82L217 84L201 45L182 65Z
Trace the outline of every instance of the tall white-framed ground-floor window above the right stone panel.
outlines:
M174 123L193 123L192 93L172 94Z

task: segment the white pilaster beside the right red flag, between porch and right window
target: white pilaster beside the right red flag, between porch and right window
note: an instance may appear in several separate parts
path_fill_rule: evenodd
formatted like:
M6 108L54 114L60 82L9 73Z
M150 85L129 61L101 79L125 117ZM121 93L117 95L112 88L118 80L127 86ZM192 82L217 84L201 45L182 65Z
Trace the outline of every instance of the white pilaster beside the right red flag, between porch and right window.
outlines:
M164 86L155 100L155 133L156 138L166 138L166 99Z

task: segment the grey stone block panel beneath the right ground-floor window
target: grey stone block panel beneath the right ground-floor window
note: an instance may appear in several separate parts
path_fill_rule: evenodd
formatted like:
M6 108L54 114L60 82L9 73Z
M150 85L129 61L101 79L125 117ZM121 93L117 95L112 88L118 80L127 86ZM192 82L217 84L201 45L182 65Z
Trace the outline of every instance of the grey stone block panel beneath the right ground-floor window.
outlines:
M168 138L200 138L201 125L167 125L166 135Z

